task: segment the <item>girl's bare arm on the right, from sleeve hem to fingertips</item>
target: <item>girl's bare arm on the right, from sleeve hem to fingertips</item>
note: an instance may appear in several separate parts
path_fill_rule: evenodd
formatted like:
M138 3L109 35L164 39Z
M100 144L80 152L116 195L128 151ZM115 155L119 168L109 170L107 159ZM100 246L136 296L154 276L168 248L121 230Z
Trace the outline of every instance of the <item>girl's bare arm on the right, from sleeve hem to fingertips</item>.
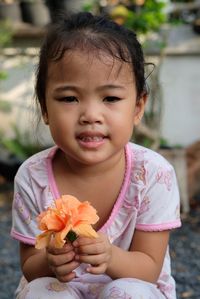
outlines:
M91 264L88 272L106 272L113 279L137 278L155 283L160 275L169 231L144 232L136 230L129 251L110 244L104 234L97 239L78 238L75 259Z

